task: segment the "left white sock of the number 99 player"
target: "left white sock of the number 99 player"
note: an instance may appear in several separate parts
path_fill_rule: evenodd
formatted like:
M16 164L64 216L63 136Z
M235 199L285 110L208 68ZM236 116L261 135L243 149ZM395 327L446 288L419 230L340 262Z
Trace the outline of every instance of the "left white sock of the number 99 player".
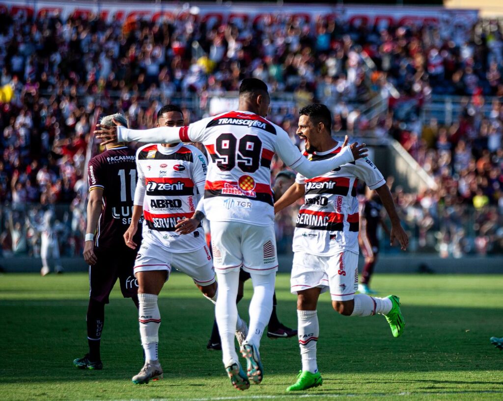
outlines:
M222 361L225 366L236 363L236 349L234 336L237 322L236 296L239 285L238 272L217 272L219 293L215 305L215 318L217 320L220 340L222 341Z

